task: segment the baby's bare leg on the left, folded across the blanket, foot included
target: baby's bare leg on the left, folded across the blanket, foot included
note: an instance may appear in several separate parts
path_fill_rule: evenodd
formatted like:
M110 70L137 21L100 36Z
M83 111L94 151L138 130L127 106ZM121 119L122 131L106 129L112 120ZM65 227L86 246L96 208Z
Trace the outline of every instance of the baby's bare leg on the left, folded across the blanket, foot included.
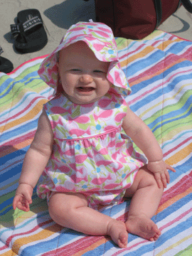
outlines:
M127 246L125 224L89 208L85 196L80 193L53 193L48 208L50 217L63 227L87 235L110 235L119 247Z

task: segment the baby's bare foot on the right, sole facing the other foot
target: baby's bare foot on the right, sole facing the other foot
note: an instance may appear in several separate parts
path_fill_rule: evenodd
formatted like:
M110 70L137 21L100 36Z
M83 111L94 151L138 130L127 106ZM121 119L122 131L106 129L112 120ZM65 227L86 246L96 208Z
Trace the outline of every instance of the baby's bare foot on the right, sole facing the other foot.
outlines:
M146 215L130 216L125 225L129 233L139 235L141 238L148 239L151 242L157 240L161 235L157 225Z

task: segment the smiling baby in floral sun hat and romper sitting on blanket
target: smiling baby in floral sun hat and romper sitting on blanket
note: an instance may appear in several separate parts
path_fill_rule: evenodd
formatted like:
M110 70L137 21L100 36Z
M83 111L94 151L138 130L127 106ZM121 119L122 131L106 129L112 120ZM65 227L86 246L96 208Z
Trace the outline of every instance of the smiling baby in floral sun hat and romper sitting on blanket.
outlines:
M23 161L14 209L29 210L39 180L38 196L47 198L59 225L110 235L119 247L127 246L128 233L157 240L161 231L151 217L169 183L167 169L175 170L124 100L131 90L111 29L92 21L71 26L38 74L55 96L43 107ZM98 210L123 198L132 198L125 223Z

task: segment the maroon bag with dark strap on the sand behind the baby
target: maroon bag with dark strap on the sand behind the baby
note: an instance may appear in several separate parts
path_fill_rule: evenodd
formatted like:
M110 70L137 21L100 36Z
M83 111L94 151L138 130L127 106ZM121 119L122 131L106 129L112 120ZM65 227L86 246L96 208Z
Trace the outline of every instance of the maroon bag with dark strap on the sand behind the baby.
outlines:
M192 13L190 0L95 0L96 21L110 26L114 36L142 39L181 4Z

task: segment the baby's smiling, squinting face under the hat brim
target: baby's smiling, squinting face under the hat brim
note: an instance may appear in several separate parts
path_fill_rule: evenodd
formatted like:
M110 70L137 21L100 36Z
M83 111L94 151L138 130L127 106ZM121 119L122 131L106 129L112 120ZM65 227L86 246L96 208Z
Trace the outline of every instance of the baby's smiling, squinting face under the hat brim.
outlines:
M95 102L110 89L109 63L95 57L85 42L78 41L60 50L59 75L63 90L76 104Z

